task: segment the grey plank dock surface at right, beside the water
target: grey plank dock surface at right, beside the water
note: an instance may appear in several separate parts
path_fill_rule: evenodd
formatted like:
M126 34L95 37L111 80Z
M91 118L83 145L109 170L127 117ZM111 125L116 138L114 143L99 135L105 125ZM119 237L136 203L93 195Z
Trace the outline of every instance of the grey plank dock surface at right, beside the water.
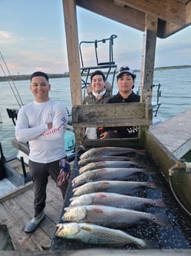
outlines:
M190 116L191 108L150 128L150 133L177 159L191 148Z

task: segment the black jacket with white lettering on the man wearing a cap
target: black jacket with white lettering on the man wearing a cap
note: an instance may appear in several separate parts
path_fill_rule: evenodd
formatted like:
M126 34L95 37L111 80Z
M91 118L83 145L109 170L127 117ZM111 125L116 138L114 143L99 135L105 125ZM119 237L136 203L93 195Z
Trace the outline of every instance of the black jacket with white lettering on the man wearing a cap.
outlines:
M132 92L127 99L124 99L118 92L115 96L108 99L107 103L128 103L128 102L140 102L140 96ZM113 133L113 131L117 133ZM130 138L138 137L138 126L127 126L127 127L114 127L114 128L104 128L104 131L110 131L110 137L117 138Z

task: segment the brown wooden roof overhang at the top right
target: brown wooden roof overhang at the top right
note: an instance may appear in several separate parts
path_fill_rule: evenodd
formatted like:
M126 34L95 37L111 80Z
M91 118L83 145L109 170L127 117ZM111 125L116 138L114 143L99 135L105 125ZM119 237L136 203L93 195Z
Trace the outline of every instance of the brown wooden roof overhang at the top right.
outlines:
M158 18L161 39L191 24L190 0L76 0L79 7L144 31L146 14Z

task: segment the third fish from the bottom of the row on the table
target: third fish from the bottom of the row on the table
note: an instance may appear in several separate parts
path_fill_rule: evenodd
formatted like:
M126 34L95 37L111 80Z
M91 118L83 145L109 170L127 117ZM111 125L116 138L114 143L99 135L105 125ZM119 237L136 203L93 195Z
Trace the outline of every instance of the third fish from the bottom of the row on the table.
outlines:
M162 199L132 197L117 193L97 192L82 194L79 197L70 198L70 206L112 206L124 209L141 210L144 206L167 207Z

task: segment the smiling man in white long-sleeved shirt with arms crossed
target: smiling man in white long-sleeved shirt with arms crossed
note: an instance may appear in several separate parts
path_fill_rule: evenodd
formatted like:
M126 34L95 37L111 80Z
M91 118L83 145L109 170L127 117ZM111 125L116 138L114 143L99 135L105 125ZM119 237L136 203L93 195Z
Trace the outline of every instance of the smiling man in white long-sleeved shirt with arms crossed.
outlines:
M49 78L37 71L30 76L33 102L24 105L16 121L16 139L29 142L29 168L34 183L34 217L24 231L33 232L44 220L48 176L56 182L61 170L61 160L67 158L64 149L64 133L67 128L67 108L49 97ZM67 182L61 188L64 198Z

